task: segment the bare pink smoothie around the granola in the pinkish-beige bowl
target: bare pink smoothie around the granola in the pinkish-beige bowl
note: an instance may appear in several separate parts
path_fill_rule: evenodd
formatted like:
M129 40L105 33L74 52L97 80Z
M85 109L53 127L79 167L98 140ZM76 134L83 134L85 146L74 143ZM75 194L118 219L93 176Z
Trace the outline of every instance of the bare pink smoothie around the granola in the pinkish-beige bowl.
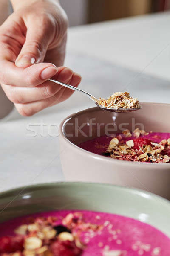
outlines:
M90 151L95 154L101 155L106 151L108 145L113 137L116 137L119 134L114 134L112 137L108 136L100 136L93 140L88 140L79 144L80 148L83 148L87 151ZM122 135L122 134L121 134ZM148 135L141 135L140 138L146 138L151 140L152 142L159 143L161 140L170 138L170 133L161 133L161 132L153 132ZM134 140L136 137L123 137L123 140L126 142L127 140ZM166 152L167 155L170 156L170 150Z

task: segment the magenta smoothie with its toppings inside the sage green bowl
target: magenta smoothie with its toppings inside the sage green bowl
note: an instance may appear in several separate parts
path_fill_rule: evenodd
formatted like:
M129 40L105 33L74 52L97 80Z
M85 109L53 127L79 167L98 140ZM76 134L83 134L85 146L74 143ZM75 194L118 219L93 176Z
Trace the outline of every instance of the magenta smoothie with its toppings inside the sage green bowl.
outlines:
M170 238L121 215L51 211L0 224L0 255L169 256Z

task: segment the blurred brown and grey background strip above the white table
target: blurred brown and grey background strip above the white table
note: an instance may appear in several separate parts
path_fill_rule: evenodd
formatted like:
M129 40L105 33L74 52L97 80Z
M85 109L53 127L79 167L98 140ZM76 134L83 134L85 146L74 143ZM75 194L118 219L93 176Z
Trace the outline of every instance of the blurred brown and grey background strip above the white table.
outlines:
M170 0L60 0L70 26L170 9Z

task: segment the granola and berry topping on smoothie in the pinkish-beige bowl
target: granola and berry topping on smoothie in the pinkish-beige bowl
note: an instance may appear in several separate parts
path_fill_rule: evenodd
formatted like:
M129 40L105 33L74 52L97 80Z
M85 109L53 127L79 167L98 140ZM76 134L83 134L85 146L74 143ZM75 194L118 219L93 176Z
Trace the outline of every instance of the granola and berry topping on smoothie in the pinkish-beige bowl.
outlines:
M125 137L127 134L131 134L129 130L123 131ZM133 136L136 139L119 140L119 143L114 143L117 137L114 137L106 150L106 153L110 154L110 157L119 160L139 161L139 162L156 162L156 163L168 163L170 162L170 156L165 154L167 150L170 150L169 142L167 140L161 140L160 143L154 143L150 140L143 139L141 135L148 135L149 132L139 130L136 128L133 131ZM139 142L139 148L135 148L135 143Z

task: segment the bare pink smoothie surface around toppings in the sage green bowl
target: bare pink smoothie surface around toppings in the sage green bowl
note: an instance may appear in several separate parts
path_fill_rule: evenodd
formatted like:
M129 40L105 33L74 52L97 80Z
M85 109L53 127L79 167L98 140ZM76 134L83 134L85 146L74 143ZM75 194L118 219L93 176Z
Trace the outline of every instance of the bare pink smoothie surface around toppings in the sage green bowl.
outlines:
M14 235L13 230L23 223L26 224L28 217L55 216L58 225L70 212L75 211L43 212L4 222L0 224L0 236ZM96 232L82 232L81 241L86 244L82 256L113 255L107 254L110 251L116 251L118 256L170 256L170 239L148 224L120 215L79 212L82 212L85 222L103 226L102 230Z

